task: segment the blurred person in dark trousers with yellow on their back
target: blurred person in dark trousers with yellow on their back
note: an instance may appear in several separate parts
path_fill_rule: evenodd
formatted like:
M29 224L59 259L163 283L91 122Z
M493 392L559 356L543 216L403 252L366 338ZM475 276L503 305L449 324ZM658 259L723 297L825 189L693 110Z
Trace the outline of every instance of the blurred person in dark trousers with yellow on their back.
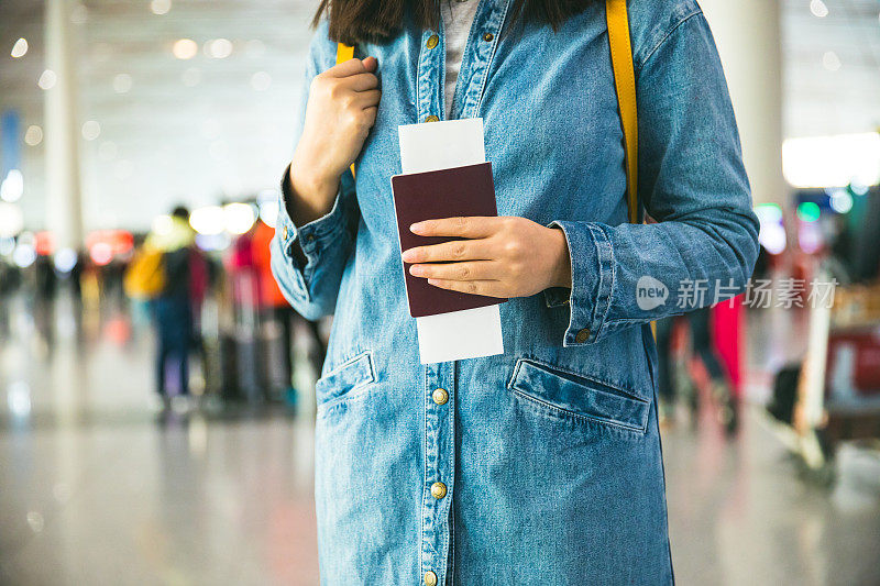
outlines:
M156 390L166 407L170 405L170 374L176 379L177 394L189 397L189 352L195 338L190 273L196 232L189 225L189 210L184 207L175 208L170 220L168 226L152 232L144 243L162 253L164 284L150 305L158 343Z

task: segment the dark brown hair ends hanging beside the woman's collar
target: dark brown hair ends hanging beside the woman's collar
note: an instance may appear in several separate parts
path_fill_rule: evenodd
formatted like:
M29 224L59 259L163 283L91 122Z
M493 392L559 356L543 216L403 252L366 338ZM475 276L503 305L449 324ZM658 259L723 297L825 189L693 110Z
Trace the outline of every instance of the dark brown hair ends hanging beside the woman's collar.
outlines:
M437 29L442 1L450 0L321 0L311 26L318 26L321 16L327 12L331 40L349 45L383 43L400 29L407 5L413 8L419 26ZM569 18L580 14L595 2L596 0L514 0L505 32L520 18L526 22L550 24L557 31Z

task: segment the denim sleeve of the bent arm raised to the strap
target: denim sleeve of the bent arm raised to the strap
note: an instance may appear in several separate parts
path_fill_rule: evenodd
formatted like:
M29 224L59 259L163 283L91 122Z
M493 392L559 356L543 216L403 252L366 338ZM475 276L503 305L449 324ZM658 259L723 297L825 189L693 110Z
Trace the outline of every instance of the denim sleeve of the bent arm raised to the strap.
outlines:
M302 133L302 121L311 79L336 63L336 44L327 37L322 21L309 46L306 79L298 103L299 121L295 143ZM292 196L289 167L282 179L278 220L271 243L272 274L284 297L302 317L310 320L329 316L336 309L345 262L354 246L360 209L351 173L342 175L333 207L326 215L297 226L287 201Z

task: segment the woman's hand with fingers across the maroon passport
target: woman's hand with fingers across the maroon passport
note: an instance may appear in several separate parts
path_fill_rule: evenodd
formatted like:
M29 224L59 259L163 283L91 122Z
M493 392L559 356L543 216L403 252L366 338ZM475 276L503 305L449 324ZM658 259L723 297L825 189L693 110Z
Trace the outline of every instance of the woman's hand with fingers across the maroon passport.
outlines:
M562 230L513 217L427 220L410 230L421 236L470 239L404 252L404 262L413 263L409 273L436 287L490 297L528 297L549 287L571 287Z

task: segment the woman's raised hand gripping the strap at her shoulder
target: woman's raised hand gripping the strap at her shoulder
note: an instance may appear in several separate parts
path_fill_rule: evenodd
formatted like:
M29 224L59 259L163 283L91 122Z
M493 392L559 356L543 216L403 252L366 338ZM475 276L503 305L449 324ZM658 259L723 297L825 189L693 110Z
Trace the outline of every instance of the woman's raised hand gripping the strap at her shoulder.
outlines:
M290 164L297 223L320 218L333 203L339 178L358 158L376 121L382 92L375 57L354 58L311 80L302 135Z

